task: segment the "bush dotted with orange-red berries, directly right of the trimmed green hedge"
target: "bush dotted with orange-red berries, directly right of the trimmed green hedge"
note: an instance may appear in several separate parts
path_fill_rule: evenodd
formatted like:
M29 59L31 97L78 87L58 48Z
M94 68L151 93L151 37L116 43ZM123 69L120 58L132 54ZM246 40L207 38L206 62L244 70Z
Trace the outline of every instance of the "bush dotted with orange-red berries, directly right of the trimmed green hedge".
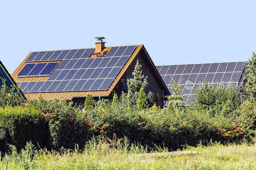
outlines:
M48 147L59 150L61 147L74 149L75 144L83 148L90 138L90 127L84 113L72 102L60 100L34 100L28 101L29 105L38 107L49 121L51 138Z

